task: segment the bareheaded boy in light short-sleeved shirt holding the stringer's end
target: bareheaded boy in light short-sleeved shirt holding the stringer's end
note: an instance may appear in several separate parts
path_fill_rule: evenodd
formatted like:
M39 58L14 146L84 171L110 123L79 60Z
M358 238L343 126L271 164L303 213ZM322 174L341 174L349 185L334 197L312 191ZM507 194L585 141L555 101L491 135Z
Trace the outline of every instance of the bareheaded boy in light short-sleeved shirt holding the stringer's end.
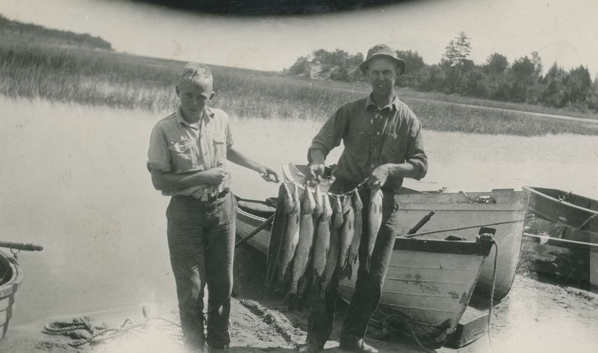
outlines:
M208 66L188 63L176 85L180 106L151 133L147 167L154 188L172 196L166 210L170 263L184 345L201 352L230 343L228 316L233 287L236 199L229 191L227 159L278 182L276 171L233 148L228 116L208 107L215 93ZM203 290L208 285L208 334Z

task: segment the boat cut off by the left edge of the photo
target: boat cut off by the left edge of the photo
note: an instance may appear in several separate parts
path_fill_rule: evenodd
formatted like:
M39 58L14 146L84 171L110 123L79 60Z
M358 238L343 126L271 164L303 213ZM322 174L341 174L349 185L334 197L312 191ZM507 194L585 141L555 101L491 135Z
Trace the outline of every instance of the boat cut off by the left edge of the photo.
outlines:
M14 293L22 280L23 271L16 260L0 251L0 339L8 330L8 321L13 314Z

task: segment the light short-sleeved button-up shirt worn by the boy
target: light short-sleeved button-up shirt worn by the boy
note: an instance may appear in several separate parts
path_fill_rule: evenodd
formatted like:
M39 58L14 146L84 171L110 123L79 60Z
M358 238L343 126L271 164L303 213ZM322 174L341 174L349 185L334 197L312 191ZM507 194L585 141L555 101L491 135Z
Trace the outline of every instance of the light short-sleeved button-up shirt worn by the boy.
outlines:
M149 139L148 170L164 173L195 173L214 167L227 168L226 154L233 145L227 114L206 107L199 121L189 124L182 117L181 107L154 126ZM213 196L230 185L230 174L219 185L196 185L190 188L162 191L163 195L186 195L201 198Z

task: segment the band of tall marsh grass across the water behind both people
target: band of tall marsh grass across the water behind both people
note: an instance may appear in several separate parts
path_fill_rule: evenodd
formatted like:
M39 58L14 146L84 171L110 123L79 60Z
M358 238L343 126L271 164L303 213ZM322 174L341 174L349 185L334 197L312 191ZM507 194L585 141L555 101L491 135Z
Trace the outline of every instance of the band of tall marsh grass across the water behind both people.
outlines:
M23 45L0 39L0 94L166 114L176 106L173 85L182 65L112 51ZM212 106L237 118L323 120L343 103L367 93L364 85L310 82L276 72L210 67L216 91ZM414 95L405 91L401 97L428 130L521 136L598 134L598 124L447 105L435 102L441 100L437 95L435 100L421 100L425 96L418 93L413 97L417 99L410 99Z

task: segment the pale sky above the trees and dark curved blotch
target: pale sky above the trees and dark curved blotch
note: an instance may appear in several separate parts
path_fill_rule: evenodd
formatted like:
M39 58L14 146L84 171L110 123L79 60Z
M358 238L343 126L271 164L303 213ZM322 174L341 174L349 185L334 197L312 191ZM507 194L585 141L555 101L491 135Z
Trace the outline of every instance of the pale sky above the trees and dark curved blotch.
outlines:
M464 31L471 59L512 63L538 51L544 70L587 66L598 74L597 0L429 0L342 13L231 17L139 2L0 0L9 19L101 36L116 51L208 64L282 70L313 50L367 53L374 44L417 51L438 63ZM408 69L407 69L408 70Z

